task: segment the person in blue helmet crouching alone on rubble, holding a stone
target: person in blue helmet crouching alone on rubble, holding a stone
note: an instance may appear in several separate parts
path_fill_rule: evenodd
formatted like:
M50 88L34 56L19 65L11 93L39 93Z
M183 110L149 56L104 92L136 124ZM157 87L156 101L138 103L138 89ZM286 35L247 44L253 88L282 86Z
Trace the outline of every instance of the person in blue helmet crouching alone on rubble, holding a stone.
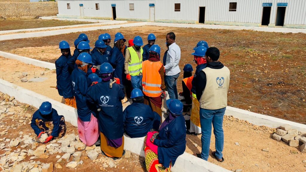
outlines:
M48 143L55 138L61 138L66 133L64 116L58 115L50 102L43 102L39 110L36 110L32 117L31 127L38 138L43 133L48 134L47 139L43 143Z

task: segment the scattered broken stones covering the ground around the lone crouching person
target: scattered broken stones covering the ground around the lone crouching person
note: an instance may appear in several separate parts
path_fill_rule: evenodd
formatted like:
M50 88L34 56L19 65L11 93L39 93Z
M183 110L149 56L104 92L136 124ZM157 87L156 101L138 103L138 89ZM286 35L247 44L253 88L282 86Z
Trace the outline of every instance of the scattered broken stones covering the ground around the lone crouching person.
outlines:
M76 170L77 166L82 166L83 160L87 162L89 159L100 166L100 170L106 170L117 168L120 161L131 158L129 151L126 151L123 159L108 158L102 155L99 146L87 147L76 134L67 134L69 131L61 139L42 144L30 128L20 131L23 125L30 127L32 114L24 113L24 108L29 106L19 104L14 97L3 96L2 93L0 96L4 98L3 101L0 100L0 171L52 172L55 169L66 171L65 168ZM17 131L13 134L14 138L13 131Z

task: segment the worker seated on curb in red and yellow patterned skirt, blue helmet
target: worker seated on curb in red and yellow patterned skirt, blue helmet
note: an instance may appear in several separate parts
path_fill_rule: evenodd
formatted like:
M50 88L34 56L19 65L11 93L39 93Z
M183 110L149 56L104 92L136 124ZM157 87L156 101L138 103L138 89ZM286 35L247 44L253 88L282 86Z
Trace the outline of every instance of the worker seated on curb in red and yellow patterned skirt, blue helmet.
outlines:
M166 103L169 116L160 126L159 133L149 132L147 135L144 154L148 172L169 172L186 148L183 104L178 99L169 99Z

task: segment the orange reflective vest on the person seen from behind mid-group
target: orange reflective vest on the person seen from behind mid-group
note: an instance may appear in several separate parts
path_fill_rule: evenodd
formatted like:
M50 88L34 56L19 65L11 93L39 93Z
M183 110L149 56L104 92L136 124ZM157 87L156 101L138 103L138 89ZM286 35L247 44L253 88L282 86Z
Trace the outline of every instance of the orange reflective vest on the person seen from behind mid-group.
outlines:
M148 97L159 97L162 94L162 78L159 70L162 62L142 62L142 91Z

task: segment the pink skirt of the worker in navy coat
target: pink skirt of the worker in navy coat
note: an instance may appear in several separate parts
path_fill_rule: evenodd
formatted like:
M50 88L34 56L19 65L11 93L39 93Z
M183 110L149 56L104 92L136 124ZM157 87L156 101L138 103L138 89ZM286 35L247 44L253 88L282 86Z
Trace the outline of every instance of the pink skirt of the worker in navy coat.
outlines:
M83 122L80 118L77 120L77 129L80 140L86 144L86 146L92 146L98 140L99 125L98 119L91 114L90 121Z

